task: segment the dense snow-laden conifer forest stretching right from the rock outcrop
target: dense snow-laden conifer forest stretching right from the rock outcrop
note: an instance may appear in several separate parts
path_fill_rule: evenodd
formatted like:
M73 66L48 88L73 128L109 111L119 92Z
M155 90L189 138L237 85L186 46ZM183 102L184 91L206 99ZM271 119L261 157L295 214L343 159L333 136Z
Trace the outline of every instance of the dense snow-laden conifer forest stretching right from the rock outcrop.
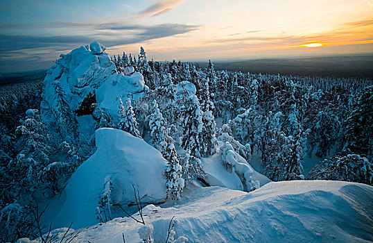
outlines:
M196 86L199 106L191 112L198 116L196 110L202 110L202 115L210 110L220 122L214 136L225 133L250 147L251 155L259 153L270 179L322 178L372 184L372 80L216 71L211 62L203 69L175 60L148 62L142 48L137 59L123 53L112 60L118 72L132 66L144 75L150 92L142 102L155 99L159 103L176 141L187 121L182 106L175 106L175 85L189 81ZM141 121L141 101L138 106ZM198 135L193 141L198 141ZM203 149L203 143L200 147ZM306 156L328 159L303 175Z

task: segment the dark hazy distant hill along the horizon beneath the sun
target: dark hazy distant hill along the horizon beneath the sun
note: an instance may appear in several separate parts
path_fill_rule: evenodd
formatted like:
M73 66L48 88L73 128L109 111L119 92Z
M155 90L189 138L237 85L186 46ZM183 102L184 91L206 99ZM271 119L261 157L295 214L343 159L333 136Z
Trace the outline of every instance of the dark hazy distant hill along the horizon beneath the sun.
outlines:
M198 65L200 67L207 67L207 62L198 62ZM254 74L373 78L373 54L214 61L214 67L218 70L241 71Z

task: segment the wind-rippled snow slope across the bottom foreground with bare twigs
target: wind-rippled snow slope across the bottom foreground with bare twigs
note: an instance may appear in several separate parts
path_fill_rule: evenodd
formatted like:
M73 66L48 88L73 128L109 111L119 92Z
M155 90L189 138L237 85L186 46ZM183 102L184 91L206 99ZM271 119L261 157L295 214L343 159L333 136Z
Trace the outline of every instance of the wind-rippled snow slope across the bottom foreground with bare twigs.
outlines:
M146 206L144 220L153 226L153 242L166 242L173 216L172 240L370 242L372 200L372 186L342 181L271 182L250 193L203 187L177 205ZM140 228L129 217L117 218L80 229L76 242L123 242L122 233L125 242L141 242Z

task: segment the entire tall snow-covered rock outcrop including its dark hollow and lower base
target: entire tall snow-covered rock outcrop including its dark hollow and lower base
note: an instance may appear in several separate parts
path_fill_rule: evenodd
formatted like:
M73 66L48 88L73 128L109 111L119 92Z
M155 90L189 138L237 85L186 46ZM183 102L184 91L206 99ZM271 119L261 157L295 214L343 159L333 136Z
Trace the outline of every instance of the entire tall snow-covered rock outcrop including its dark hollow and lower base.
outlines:
M116 123L119 119L119 98L136 100L147 89L144 77L133 72L133 67L127 76L116 73L116 67L105 49L100 43L93 42L66 55L61 54L44 78L40 106L42 121L55 127L68 124L70 127L60 129L60 132L78 130L80 142L87 142L94 133L96 117L91 116L94 109L89 111L92 103L113 117ZM86 110L81 110L82 103L87 106Z

